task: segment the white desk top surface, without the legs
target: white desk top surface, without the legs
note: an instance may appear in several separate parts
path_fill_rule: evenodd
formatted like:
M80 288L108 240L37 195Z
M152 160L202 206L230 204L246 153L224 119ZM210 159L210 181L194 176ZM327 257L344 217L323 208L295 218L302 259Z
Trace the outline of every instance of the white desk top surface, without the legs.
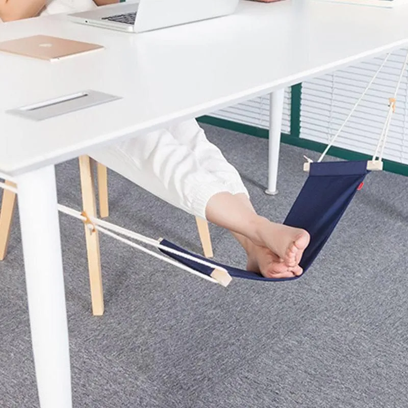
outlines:
M143 34L63 16L2 24L0 41L44 34L106 48L52 63L0 53L0 171L56 164L402 47L407 18L408 6L286 0ZM121 99L38 122L6 112L87 89Z

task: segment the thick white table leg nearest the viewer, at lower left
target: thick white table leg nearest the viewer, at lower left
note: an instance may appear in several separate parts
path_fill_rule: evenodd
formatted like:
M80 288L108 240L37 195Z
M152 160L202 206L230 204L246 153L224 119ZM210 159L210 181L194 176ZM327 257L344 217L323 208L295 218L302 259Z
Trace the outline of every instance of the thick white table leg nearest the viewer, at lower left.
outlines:
M41 408L72 408L54 166L16 177L34 364Z

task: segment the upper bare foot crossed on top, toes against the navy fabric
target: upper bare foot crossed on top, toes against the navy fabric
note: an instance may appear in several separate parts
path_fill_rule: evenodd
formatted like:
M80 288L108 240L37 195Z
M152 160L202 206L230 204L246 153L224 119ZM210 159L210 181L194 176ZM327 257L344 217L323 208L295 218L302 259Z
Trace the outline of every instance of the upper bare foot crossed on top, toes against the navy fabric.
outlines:
M269 248L288 267L299 264L303 251L310 242L307 231L277 224L264 217L258 217L254 234L248 238L257 246Z

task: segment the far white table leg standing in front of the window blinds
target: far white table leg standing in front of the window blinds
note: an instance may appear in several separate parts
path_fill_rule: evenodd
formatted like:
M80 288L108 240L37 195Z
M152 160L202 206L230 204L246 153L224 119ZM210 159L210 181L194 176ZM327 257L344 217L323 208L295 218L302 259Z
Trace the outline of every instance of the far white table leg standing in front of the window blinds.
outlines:
M277 194L277 166L279 146L281 145L282 115L284 110L285 89L278 89L270 94L269 108L269 169L268 189L266 194Z

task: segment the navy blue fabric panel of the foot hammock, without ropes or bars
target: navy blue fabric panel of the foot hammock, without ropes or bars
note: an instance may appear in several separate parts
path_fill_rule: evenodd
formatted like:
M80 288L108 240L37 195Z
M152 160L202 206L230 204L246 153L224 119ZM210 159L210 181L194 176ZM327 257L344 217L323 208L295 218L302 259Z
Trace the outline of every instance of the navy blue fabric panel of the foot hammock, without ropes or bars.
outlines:
M318 256L368 172L366 161L310 164L309 177L284 221L285 225L303 228L311 236L310 244L303 252L300 261L303 274ZM206 261L205 258L186 251L167 240L163 240L161 245ZM213 271L211 267L166 252L165 249L161 249L161 251L198 272L210 275ZM292 281L300 277L266 278L259 273L211 262L225 268L231 276L244 279L281 282Z

